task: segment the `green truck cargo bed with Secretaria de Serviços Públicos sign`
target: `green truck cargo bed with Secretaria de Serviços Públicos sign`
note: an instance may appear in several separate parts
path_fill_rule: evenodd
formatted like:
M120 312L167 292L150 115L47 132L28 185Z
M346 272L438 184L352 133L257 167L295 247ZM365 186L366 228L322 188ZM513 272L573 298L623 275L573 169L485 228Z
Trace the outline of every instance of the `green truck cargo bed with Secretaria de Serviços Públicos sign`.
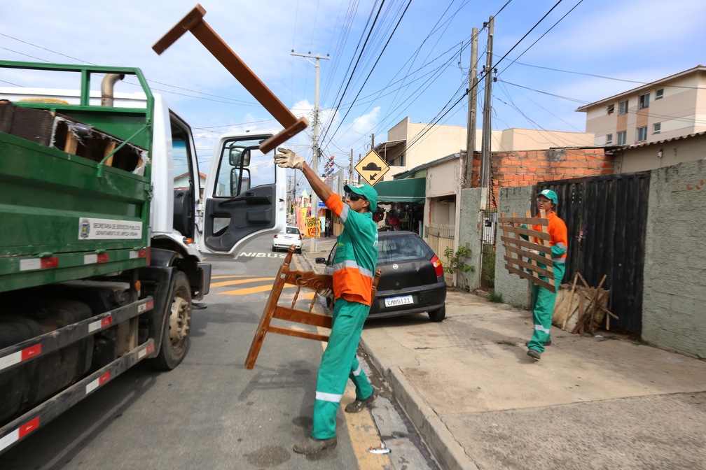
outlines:
M86 69L76 71L88 80ZM136 75L141 79L138 70ZM151 94L146 94L148 106L140 110L88 106L88 97L71 106L0 103L5 109L0 109L0 292L147 264L150 171L143 147L151 140ZM32 132L32 113L44 122L37 132ZM95 128L87 135L83 123ZM131 143L121 146L125 140Z

